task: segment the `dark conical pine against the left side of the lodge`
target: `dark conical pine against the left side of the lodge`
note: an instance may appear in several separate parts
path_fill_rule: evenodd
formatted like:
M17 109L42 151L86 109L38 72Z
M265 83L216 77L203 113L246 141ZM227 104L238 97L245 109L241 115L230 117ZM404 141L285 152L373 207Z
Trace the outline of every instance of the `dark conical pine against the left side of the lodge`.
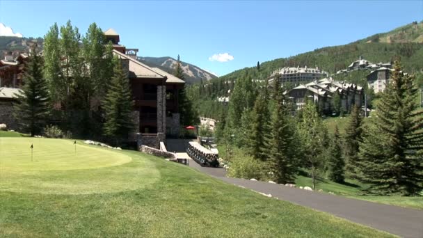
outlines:
M104 100L104 134L114 138L113 141L119 144L134 129L134 122L131 118L132 100L129 88L129 79L122 70L122 65L118 58L114 60L113 78Z

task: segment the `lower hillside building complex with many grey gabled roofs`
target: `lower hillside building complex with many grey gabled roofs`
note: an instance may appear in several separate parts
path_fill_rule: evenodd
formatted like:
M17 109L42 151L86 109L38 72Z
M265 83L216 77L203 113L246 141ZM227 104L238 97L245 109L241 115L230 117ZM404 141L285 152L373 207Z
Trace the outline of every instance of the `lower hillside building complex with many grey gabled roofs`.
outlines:
M332 78L301 84L285 92L285 95L294 102L296 109L301 109L306 100L313 100L326 114L330 114L333 110L333 97L336 94L340 96L344 111L348 111L353 105L362 105L364 95L362 87L335 81Z

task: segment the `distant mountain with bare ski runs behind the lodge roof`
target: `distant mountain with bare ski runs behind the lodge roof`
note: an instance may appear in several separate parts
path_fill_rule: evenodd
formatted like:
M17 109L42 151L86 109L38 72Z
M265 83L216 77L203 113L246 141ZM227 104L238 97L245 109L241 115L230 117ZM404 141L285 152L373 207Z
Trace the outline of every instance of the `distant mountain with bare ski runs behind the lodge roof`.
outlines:
M170 74L173 74L177 61L172 57L137 57L137 60L141 63L145 63L150 67L159 68ZM217 76L207 70L202 70L198 66L191 65L181 61L182 70L184 70L185 81L188 84L193 84L201 79L208 81L210 79L216 79Z

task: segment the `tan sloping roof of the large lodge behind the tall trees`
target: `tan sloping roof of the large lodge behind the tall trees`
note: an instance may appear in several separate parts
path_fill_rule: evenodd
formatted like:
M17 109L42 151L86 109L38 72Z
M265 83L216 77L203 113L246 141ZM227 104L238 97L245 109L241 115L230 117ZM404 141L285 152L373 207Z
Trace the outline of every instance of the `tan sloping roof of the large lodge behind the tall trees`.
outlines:
M113 54L119 58L125 58L129 60L129 78L166 79L164 74L153 70L147 65L127 56L126 54L122 54L120 51L113 49Z

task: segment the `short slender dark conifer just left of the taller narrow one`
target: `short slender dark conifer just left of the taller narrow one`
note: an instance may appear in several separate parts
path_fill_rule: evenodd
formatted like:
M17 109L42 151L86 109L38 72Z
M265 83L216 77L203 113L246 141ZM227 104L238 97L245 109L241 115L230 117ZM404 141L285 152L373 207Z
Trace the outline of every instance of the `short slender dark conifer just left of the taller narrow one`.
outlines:
M329 148L328 178L334 182L344 182L345 162L342 156L341 138L338 127L335 126L332 145Z

